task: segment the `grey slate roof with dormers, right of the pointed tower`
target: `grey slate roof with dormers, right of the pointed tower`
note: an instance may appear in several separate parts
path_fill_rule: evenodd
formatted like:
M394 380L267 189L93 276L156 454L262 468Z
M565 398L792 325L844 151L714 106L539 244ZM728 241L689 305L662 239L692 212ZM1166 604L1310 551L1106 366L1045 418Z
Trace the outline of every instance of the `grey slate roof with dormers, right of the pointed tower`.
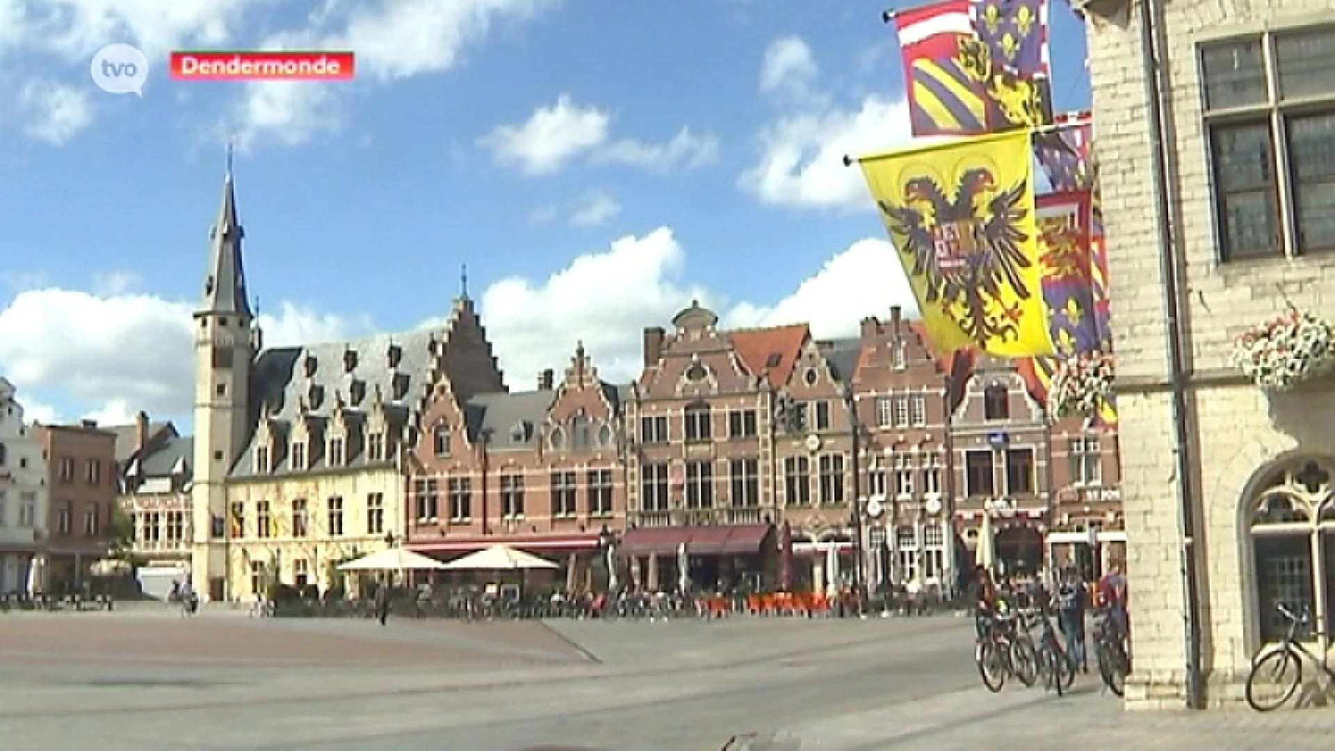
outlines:
M330 469L324 456L324 433L335 405L340 401L348 440L343 448L344 461L339 466L390 464L367 460L364 441L360 440L362 428L379 394L388 421L388 434L402 436L434 381L433 347L442 346L443 337L441 329L425 329L260 353L251 374L250 424L258 428L263 416L270 418L276 449L276 456L271 457L272 474L292 472L287 444L303 409L311 442L307 448L307 469L302 472ZM232 466L232 477L256 474L255 449L259 436L258 429L252 430Z

